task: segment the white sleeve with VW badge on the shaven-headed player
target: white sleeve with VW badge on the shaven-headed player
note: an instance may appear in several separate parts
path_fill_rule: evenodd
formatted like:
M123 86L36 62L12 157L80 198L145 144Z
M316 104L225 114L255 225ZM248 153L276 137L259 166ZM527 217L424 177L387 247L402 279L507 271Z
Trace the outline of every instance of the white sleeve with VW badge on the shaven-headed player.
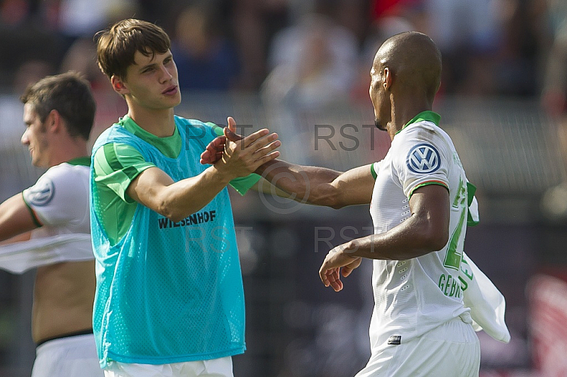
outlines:
M447 145L426 127L418 125L396 135L401 137L395 140L395 151L391 151L393 174L408 198L415 188L424 184L449 187Z

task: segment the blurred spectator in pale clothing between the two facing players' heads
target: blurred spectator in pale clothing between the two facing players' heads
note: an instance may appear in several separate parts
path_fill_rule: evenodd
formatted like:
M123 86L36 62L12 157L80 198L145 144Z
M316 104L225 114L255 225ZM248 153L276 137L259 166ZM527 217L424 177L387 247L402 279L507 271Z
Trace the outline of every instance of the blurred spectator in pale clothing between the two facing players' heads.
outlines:
M315 111L348 94L356 61L354 35L330 18L310 14L274 38L263 98Z

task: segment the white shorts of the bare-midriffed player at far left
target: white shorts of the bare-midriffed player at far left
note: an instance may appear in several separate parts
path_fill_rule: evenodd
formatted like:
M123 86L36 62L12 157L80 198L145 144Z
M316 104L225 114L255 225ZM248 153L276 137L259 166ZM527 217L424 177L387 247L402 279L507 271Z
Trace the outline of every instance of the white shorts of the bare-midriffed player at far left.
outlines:
M94 335L53 339L35 349L31 377L102 377Z

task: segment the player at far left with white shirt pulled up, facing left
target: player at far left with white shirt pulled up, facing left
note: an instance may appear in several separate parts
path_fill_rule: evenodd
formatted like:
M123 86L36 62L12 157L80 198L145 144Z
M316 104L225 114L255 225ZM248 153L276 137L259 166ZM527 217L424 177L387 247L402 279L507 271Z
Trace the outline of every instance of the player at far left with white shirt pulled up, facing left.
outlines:
M0 205L0 268L37 267L32 376L103 376L92 331L94 255L87 140L96 105L89 82L68 72L28 86L22 143L47 171Z

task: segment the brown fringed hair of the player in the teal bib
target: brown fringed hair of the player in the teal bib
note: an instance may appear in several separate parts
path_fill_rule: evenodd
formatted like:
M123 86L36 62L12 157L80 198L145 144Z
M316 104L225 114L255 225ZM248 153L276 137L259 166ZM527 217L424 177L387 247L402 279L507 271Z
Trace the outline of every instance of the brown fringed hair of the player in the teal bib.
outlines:
M118 21L111 28L96 33L96 55L99 67L110 79L113 75L125 79L126 69L134 64L136 51L145 56L164 54L171 40L159 26L128 18Z

